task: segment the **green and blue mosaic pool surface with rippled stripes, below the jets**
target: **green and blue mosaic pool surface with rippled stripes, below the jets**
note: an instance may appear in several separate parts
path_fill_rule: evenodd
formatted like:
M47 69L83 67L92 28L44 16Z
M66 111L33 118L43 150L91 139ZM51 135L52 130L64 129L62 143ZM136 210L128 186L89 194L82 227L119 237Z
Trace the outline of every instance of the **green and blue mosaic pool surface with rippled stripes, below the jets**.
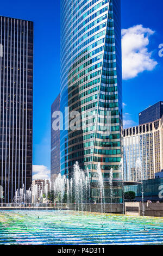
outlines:
M163 245L163 218L0 211L0 245Z

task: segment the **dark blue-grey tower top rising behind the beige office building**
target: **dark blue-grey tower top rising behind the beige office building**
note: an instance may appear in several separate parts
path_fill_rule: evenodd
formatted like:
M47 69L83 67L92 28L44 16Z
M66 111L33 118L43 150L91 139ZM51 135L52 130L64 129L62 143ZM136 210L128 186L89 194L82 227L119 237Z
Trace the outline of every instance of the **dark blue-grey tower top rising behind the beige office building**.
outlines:
M163 115L163 101L146 108L139 113L139 124L146 124L158 120Z

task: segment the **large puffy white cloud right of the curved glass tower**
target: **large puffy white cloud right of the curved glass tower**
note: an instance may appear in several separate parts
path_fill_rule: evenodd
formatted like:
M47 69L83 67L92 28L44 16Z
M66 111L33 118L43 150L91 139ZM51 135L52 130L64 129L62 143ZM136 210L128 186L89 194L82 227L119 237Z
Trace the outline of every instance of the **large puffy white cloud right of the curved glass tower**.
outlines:
M123 80L136 77L139 73L152 71L158 64L148 52L149 36L155 32L142 25L122 29L122 77Z

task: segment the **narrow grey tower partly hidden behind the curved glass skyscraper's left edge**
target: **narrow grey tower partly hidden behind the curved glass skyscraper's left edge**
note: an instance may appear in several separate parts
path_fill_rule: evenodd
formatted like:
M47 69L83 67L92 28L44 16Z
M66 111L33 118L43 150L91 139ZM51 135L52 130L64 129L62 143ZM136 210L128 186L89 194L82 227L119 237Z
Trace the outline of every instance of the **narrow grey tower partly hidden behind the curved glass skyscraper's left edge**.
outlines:
M51 181L52 184L60 173L60 130L55 130L53 122L55 121L54 113L60 111L60 94L51 106Z

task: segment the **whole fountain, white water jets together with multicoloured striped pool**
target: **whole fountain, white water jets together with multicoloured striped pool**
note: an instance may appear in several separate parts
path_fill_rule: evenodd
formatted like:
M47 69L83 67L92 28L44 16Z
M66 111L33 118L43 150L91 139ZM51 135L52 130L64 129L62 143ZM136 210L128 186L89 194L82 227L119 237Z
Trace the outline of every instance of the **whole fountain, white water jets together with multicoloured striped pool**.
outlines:
M120 162L120 169L123 187L123 160ZM136 170L142 184L143 205L143 169L140 159L136 162ZM51 185L48 191L48 184L45 185L44 191L43 184L39 187L33 186L33 191L30 189L25 191L24 186L20 190L16 190L14 201L16 206L22 206L23 202L30 204L32 200L35 206L39 199L43 204L43 193L45 193L46 206L48 206L48 199L52 199L52 192L54 193L52 200L57 205L54 211L40 212L39 209L35 209L35 211L26 211L26 214L21 211L22 208L18 211L5 211L5 213L0 211L0 223L3 222L3 225L0 225L0 234L3 237L0 243L8 245L10 243L12 245L25 245L26 243L28 245L163 245L161 218L110 215L107 213L103 215L106 208L103 176L99 163L96 173L97 182L91 184L89 178L89 170L86 169L84 172L76 162L71 178L68 179L65 175L59 174L52 184L53 191ZM112 212L112 203L114 202L112 198L115 196L113 194L115 187L113 187L112 169L110 170L109 185L108 194L110 191ZM92 193L90 192L91 189ZM95 190L93 191L93 189ZM99 193L96 193L97 191ZM97 203L99 203L99 210L102 214L85 212L88 208L87 205L90 206L91 211L91 196L99 197ZM123 194L122 197L124 197ZM67 204L66 209L64 203ZM75 203L74 206L73 203ZM57 206L58 209L56 209ZM45 210L43 207L42 209ZM34 223L37 224L34 225Z

